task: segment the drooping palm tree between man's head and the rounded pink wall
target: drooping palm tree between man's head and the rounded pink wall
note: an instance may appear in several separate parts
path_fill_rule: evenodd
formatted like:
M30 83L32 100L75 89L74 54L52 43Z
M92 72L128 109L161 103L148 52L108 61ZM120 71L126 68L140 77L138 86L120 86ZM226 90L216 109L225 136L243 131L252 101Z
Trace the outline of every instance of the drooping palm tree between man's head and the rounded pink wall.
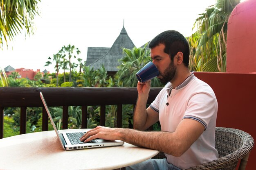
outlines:
M191 37L191 67L196 71L225 72L227 22L240 0L218 0L200 14L194 24L198 28Z

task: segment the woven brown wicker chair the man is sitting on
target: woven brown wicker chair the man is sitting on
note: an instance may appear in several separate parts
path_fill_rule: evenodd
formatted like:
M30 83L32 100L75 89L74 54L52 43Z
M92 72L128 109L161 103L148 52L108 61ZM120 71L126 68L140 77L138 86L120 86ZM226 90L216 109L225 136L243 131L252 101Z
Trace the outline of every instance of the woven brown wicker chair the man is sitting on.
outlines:
M254 146L252 136L238 129L216 127L215 140L219 158L186 170L236 170L240 159L239 170L245 170L249 153ZM159 153L153 158L164 157L163 153Z

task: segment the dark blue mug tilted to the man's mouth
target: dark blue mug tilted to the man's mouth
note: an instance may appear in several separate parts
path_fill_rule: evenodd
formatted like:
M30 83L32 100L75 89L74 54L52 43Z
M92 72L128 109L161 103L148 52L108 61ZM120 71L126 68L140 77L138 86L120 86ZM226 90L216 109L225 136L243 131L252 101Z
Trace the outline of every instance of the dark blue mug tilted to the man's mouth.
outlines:
M136 77L139 82L143 83L145 81L151 80L159 75L159 71L154 63L149 61L143 68L141 68L137 73Z

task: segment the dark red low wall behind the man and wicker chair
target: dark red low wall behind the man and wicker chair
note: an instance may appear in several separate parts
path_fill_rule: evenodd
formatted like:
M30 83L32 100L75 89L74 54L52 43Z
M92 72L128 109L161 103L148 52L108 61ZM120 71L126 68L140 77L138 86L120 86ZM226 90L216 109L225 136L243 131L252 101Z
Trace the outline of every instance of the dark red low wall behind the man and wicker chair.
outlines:
M255 47L256 48L256 47ZM240 129L256 140L256 74L195 72L208 83L218 100L216 126ZM256 148L250 153L247 170L256 166Z

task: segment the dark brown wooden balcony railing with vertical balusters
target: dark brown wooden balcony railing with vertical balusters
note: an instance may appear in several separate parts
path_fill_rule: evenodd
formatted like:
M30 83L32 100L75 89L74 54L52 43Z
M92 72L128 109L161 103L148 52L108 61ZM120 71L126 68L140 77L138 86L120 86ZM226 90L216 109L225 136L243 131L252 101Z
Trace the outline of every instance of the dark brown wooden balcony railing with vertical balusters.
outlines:
M151 88L148 104L162 88ZM63 107L63 129L67 129L68 107L82 107L82 125L87 127L87 107L100 106L100 125L105 126L106 105L117 105L117 127L122 126L122 105L134 105L136 87L0 87L0 139L3 138L4 108L20 107L20 134L26 133L27 107L42 107L42 130L48 130L48 116L39 93L49 107Z

